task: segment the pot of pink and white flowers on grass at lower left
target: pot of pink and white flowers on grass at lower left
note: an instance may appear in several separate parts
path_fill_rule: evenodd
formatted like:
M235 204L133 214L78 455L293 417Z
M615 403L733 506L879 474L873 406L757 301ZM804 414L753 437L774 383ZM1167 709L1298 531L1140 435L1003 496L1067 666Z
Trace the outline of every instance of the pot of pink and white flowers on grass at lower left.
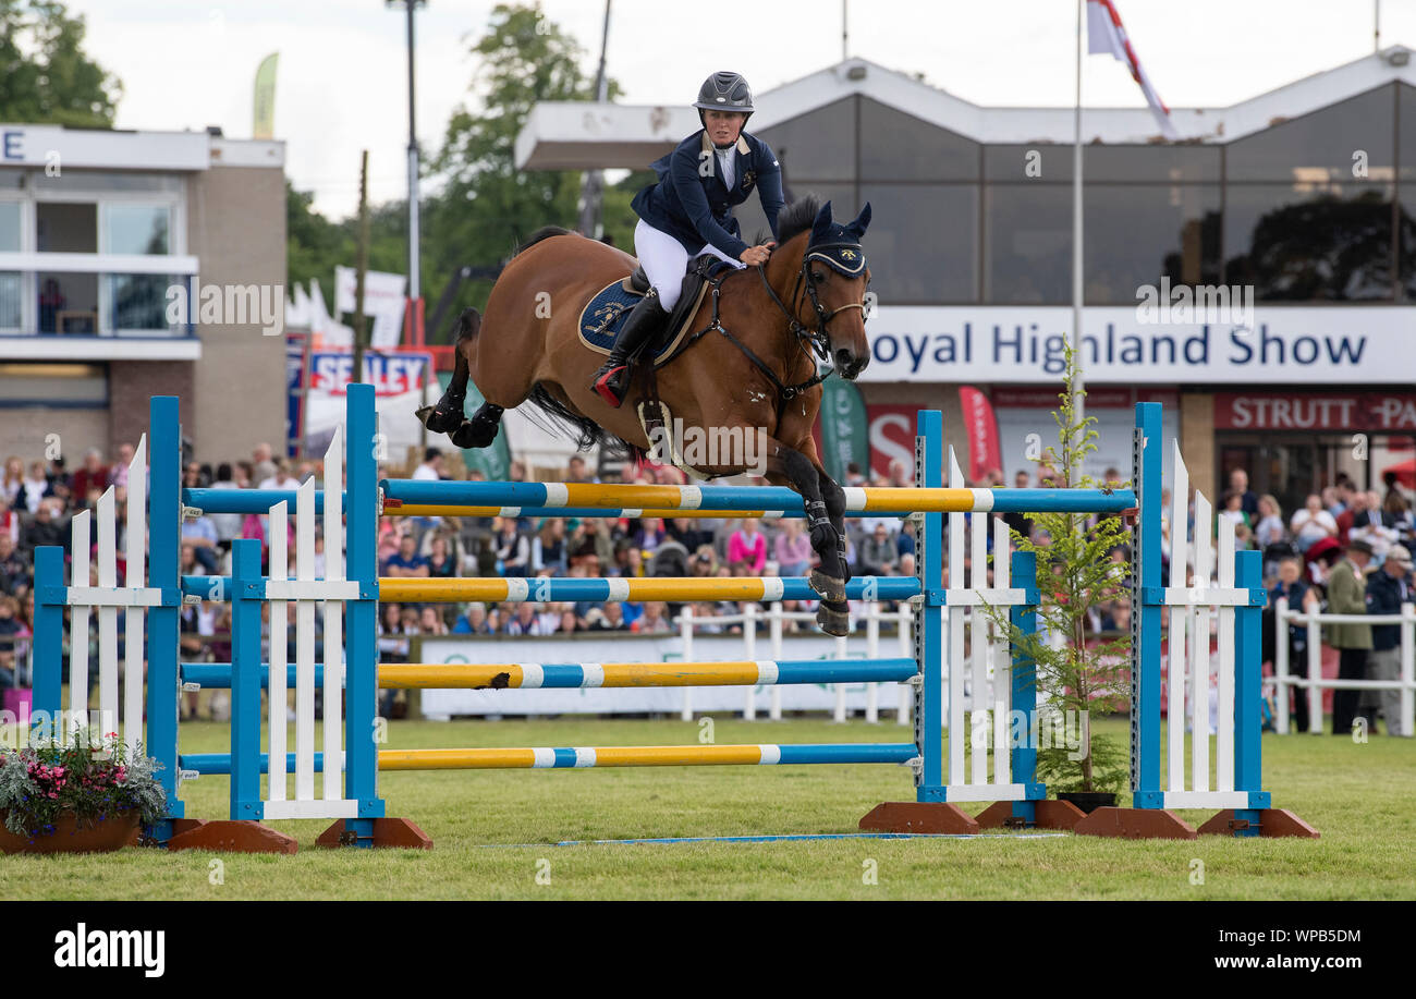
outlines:
M0 850L88 853L136 843L139 826L166 813L159 767L118 735L86 728L69 743L0 750Z

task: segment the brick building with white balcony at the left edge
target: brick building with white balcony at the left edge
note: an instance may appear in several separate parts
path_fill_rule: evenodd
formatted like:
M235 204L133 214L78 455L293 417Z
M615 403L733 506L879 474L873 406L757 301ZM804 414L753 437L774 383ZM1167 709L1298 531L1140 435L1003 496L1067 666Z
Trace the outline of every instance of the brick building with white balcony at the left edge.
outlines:
M0 125L0 455L285 441L285 143ZM52 436L51 435L57 435Z

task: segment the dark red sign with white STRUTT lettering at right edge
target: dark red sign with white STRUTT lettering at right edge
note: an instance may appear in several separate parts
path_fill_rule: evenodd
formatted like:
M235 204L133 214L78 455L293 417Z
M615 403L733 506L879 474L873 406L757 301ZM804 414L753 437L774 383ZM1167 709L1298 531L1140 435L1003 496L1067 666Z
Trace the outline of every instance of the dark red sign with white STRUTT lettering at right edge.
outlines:
M1410 393L1218 393L1215 429L1416 432Z

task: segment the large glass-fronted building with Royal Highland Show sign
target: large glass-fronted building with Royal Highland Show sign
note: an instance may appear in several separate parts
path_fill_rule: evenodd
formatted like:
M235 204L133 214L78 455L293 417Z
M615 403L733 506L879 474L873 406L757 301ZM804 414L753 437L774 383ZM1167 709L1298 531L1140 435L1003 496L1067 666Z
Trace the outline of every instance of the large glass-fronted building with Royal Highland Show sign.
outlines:
M646 166L700 128L691 96L538 105L517 162ZM756 106L749 130L777 153L790 194L817 191L845 217L874 208L879 309L861 378L872 445L886 461L908 453L903 414L929 405L966 449L957 388L974 385L993 401L1011 482L1029 468L1028 435L1055 439L1072 109L981 108L860 58ZM1082 354L1107 444L1092 470L1129 468L1130 404L1155 398L1211 496L1232 468L1286 512L1338 470L1381 487L1416 435L1410 51L1172 116L1184 142L1160 140L1146 108L1083 112ZM765 225L755 201L739 211L746 235ZM1158 307L1141 307L1146 289ZM1206 307L1182 310L1191 296Z

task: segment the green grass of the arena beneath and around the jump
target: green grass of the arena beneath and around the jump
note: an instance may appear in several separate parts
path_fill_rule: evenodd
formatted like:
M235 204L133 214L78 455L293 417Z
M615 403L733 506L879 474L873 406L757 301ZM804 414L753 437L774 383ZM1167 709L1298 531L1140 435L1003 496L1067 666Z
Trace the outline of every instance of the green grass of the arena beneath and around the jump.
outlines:
M1124 721L1099 728L1124 734ZM909 741L892 721L716 721L718 743ZM184 751L222 751L227 726L183 727ZM391 747L651 745L698 741L680 721L396 721ZM388 815L436 847L316 850L329 823L272 823L295 857L164 853L0 856L0 898L1413 898L1416 741L1365 745L1266 735L1264 785L1320 840L1085 836L573 846L571 839L852 832L881 801L912 799L899 767L701 767L391 772ZM183 785L187 813L225 818L228 781ZM976 806L969 806L977 811ZM1206 813L1184 813L1192 825ZM517 849L487 845L532 843ZM1204 883L1192 884L1194 862ZM219 862L219 863L218 863ZM868 869L877 884L865 884ZM538 883L538 871L549 876ZM218 877L219 874L219 877ZM214 883L217 881L217 883Z

